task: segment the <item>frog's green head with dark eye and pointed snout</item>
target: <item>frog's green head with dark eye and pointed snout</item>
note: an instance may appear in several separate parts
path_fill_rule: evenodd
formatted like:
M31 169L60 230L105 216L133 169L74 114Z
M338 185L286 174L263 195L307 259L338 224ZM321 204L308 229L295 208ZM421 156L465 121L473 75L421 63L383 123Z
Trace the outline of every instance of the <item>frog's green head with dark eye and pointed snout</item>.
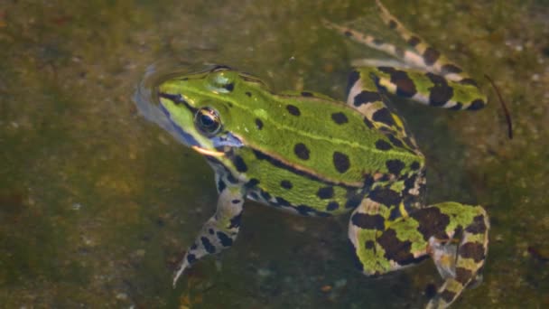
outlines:
M160 108L184 144L202 155L223 155L243 145L231 107L239 99L233 89L245 84L242 73L226 66L180 75L158 86Z

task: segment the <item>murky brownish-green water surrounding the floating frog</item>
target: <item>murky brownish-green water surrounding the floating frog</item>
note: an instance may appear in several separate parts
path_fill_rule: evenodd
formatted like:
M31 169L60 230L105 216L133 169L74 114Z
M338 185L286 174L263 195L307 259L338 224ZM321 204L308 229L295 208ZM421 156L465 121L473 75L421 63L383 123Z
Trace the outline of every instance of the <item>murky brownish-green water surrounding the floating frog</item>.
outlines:
M321 18L379 23L369 1L0 2L2 307L420 307L431 262L361 276L346 218L296 218L248 202L236 245L171 287L217 199L203 159L140 117L155 61L215 61L274 89L343 98L371 57ZM455 307L549 305L549 3L386 1L472 73L497 81L478 113L400 104L427 156L430 201L478 202L492 221L485 280Z

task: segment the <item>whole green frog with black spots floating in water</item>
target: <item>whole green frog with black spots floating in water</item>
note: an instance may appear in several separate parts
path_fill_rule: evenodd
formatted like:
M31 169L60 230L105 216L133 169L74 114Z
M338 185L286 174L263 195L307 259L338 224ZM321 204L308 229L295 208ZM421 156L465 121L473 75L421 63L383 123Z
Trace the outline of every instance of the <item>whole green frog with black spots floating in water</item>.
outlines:
M487 97L378 0L377 8L409 49L324 21L396 60L355 68L346 101L313 91L274 92L226 65L171 75L156 86L162 126L206 159L219 192L217 209L185 251L173 286L197 261L233 245L246 200L308 217L349 215L349 262L366 276L431 258L443 282L427 308L448 307L479 283L489 247L487 211L456 201L424 202L425 157L388 103L406 98L474 111Z

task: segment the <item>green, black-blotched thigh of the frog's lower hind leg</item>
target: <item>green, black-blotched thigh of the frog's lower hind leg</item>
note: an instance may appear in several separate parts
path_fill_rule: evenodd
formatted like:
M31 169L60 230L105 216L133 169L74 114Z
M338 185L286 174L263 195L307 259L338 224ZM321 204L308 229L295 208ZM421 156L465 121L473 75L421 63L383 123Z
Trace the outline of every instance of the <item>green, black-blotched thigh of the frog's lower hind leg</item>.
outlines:
M366 199L350 217L349 239L365 275L381 275L426 257L428 242L414 221L386 220L389 212L385 205Z

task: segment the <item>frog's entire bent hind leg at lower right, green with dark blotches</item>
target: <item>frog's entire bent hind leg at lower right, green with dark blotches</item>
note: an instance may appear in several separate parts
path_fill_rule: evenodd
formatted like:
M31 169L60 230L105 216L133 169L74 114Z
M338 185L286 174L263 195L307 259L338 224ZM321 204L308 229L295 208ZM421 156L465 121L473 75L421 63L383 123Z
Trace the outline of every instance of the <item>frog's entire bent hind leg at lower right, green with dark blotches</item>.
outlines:
M444 202L395 220L383 205L366 199L353 211L349 239L368 276L412 266L432 257L444 283L427 308L449 306L478 280L488 251L489 220L480 206Z

